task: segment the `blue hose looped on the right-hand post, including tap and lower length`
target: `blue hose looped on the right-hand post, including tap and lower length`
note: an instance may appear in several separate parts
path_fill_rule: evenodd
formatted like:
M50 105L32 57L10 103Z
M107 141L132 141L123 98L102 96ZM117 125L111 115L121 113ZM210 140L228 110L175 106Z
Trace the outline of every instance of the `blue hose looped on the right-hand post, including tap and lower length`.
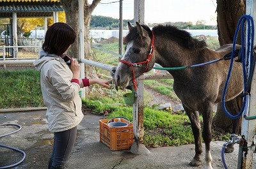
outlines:
M247 21L247 29L248 29L248 34L247 34L247 60L245 59L245 51L244 51L244 27L245 27L245 22ZM231 115L228 111L227 108L225 107L225 95L227 92L227 86L228 86L228 82L230 80L230 76L231 76L231 71L232 71L232 66L233 66L233 62L234 62L234 52L235 52L235 48L236 48L236 41L237 41L237 34L239 31L239 28L241 26L241 45L242 45L242 65L243 65L243 81L244 81L244 89L243 89L243 105L242 108L239 112L239 114L237 115ZM252 29L251 29L252 28ZM247 117L247 113L248 113L248 108L249 108L249 101L250 101L250 87L251 87L251 83L252 83L252 74L254 71L254 66L255 66L255 58L253 57L253 39L254 39L254 24L253 24L253 18L250 15L243 15L237 24L237 29L236 29L236 33L234 35L234 41L233 41L233 48L232 48L232 55L231 55L231 59L230 59L230 67L228 70L228 76L227 76L227 80L225 82L225 87L223 90L223 96L222 96L222 106L223 106L223 110L225 112L225 114L228 115L228 117L230 117L231 119L237 119L238 117L241 116L241 114L243 114L244 112L244 119L246 120L252 120L252 119L256 119L256 115L252 116L252 117ZM248 68L248 62L250 61L250 71L247 71L247 75L246 75L246 68ZM231 135L231 140L224 143L223 147L221 149L221 159L224 165L224 168L227 169L227 164L225 163L225 158L224 158L224 152L225 152L225 148L227 148L227 145L229 144L234 144L234 143L239 143L241 142L241 140L243 140L243 138L238 138L237 135L232 134Z

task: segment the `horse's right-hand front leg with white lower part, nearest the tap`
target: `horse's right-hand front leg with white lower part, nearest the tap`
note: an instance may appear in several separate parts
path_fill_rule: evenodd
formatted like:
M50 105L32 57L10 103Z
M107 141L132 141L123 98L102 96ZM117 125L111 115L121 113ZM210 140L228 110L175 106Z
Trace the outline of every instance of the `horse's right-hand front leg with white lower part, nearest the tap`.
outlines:
M207 107L207 105L209 105ZM204 121L204 128L202 132L202 136L205 142L205 169L212 169L212 156L210 151L210 143L212 139L212 104L204 104L204 108L202 110L202 116Z

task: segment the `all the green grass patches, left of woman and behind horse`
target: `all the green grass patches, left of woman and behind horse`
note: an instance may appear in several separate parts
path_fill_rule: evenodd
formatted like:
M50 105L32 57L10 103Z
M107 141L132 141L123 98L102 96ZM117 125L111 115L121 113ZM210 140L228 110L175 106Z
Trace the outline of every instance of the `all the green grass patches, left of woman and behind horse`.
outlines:
M118 52L118 43L102 46L113 52ZM118 58L93 49L97 61L116 66ZM104 73L97 69L98 73ZM106 71L106 73L109 73ZM108 74L106 74L108 75ZM34 69L24 70L0 70L0 77L4 80L0 83L0 108L22 108L44 106L40 89L40 73ZM145 80L145 85L166 96L178 99L173 92L173 79ZM83 110L94 114L104 115L109 119L116 116L124 116L132 121L132 107L124 103L123 94L129 91L116 91L101 89L99 85L93 85L90 92L83 99ZM188 117L180 112L173 113L171 110L156 110L149 107L148 102L152 94L145 92L144 100L144 143L147 147L162 147L193 143L193 134ZM202 122L202 118L201 118ZM228 133L218 133L212 130L215 140L228 140Z

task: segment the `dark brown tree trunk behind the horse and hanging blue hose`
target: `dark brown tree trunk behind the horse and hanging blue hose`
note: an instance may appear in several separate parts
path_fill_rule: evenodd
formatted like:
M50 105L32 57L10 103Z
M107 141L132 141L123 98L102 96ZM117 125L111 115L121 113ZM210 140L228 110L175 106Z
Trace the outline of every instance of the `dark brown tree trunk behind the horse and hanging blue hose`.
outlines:
M217 0L217 24L219 41L221 46L228 43L233 43L238 20L245 13L245 4L245 0ZM237 44L241 44L240 33L237 34ZM235 115L234 111L239 111L241 108L241 104L241 98L234 98L230 101L227 101L226 107L228 109L228 112L232 112L232 114ZM235 121L227 117L227 115L223 111L221 103L219 103L212 124L214 126L217 126L218 128L229 130L233 122ZM236 130L240 131L241 128L239 127Z

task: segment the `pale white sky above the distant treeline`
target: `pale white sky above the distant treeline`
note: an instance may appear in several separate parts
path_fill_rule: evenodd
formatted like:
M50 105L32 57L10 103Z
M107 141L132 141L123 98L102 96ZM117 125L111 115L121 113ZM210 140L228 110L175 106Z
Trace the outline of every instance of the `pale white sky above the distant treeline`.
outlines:
M89 3L92 2L89 1ZM215 0L145 0L145 22L193 22L216 25ZM119 18L119 0L101 0L92 15ZM123 0L123 19L134 16L134 0Z

